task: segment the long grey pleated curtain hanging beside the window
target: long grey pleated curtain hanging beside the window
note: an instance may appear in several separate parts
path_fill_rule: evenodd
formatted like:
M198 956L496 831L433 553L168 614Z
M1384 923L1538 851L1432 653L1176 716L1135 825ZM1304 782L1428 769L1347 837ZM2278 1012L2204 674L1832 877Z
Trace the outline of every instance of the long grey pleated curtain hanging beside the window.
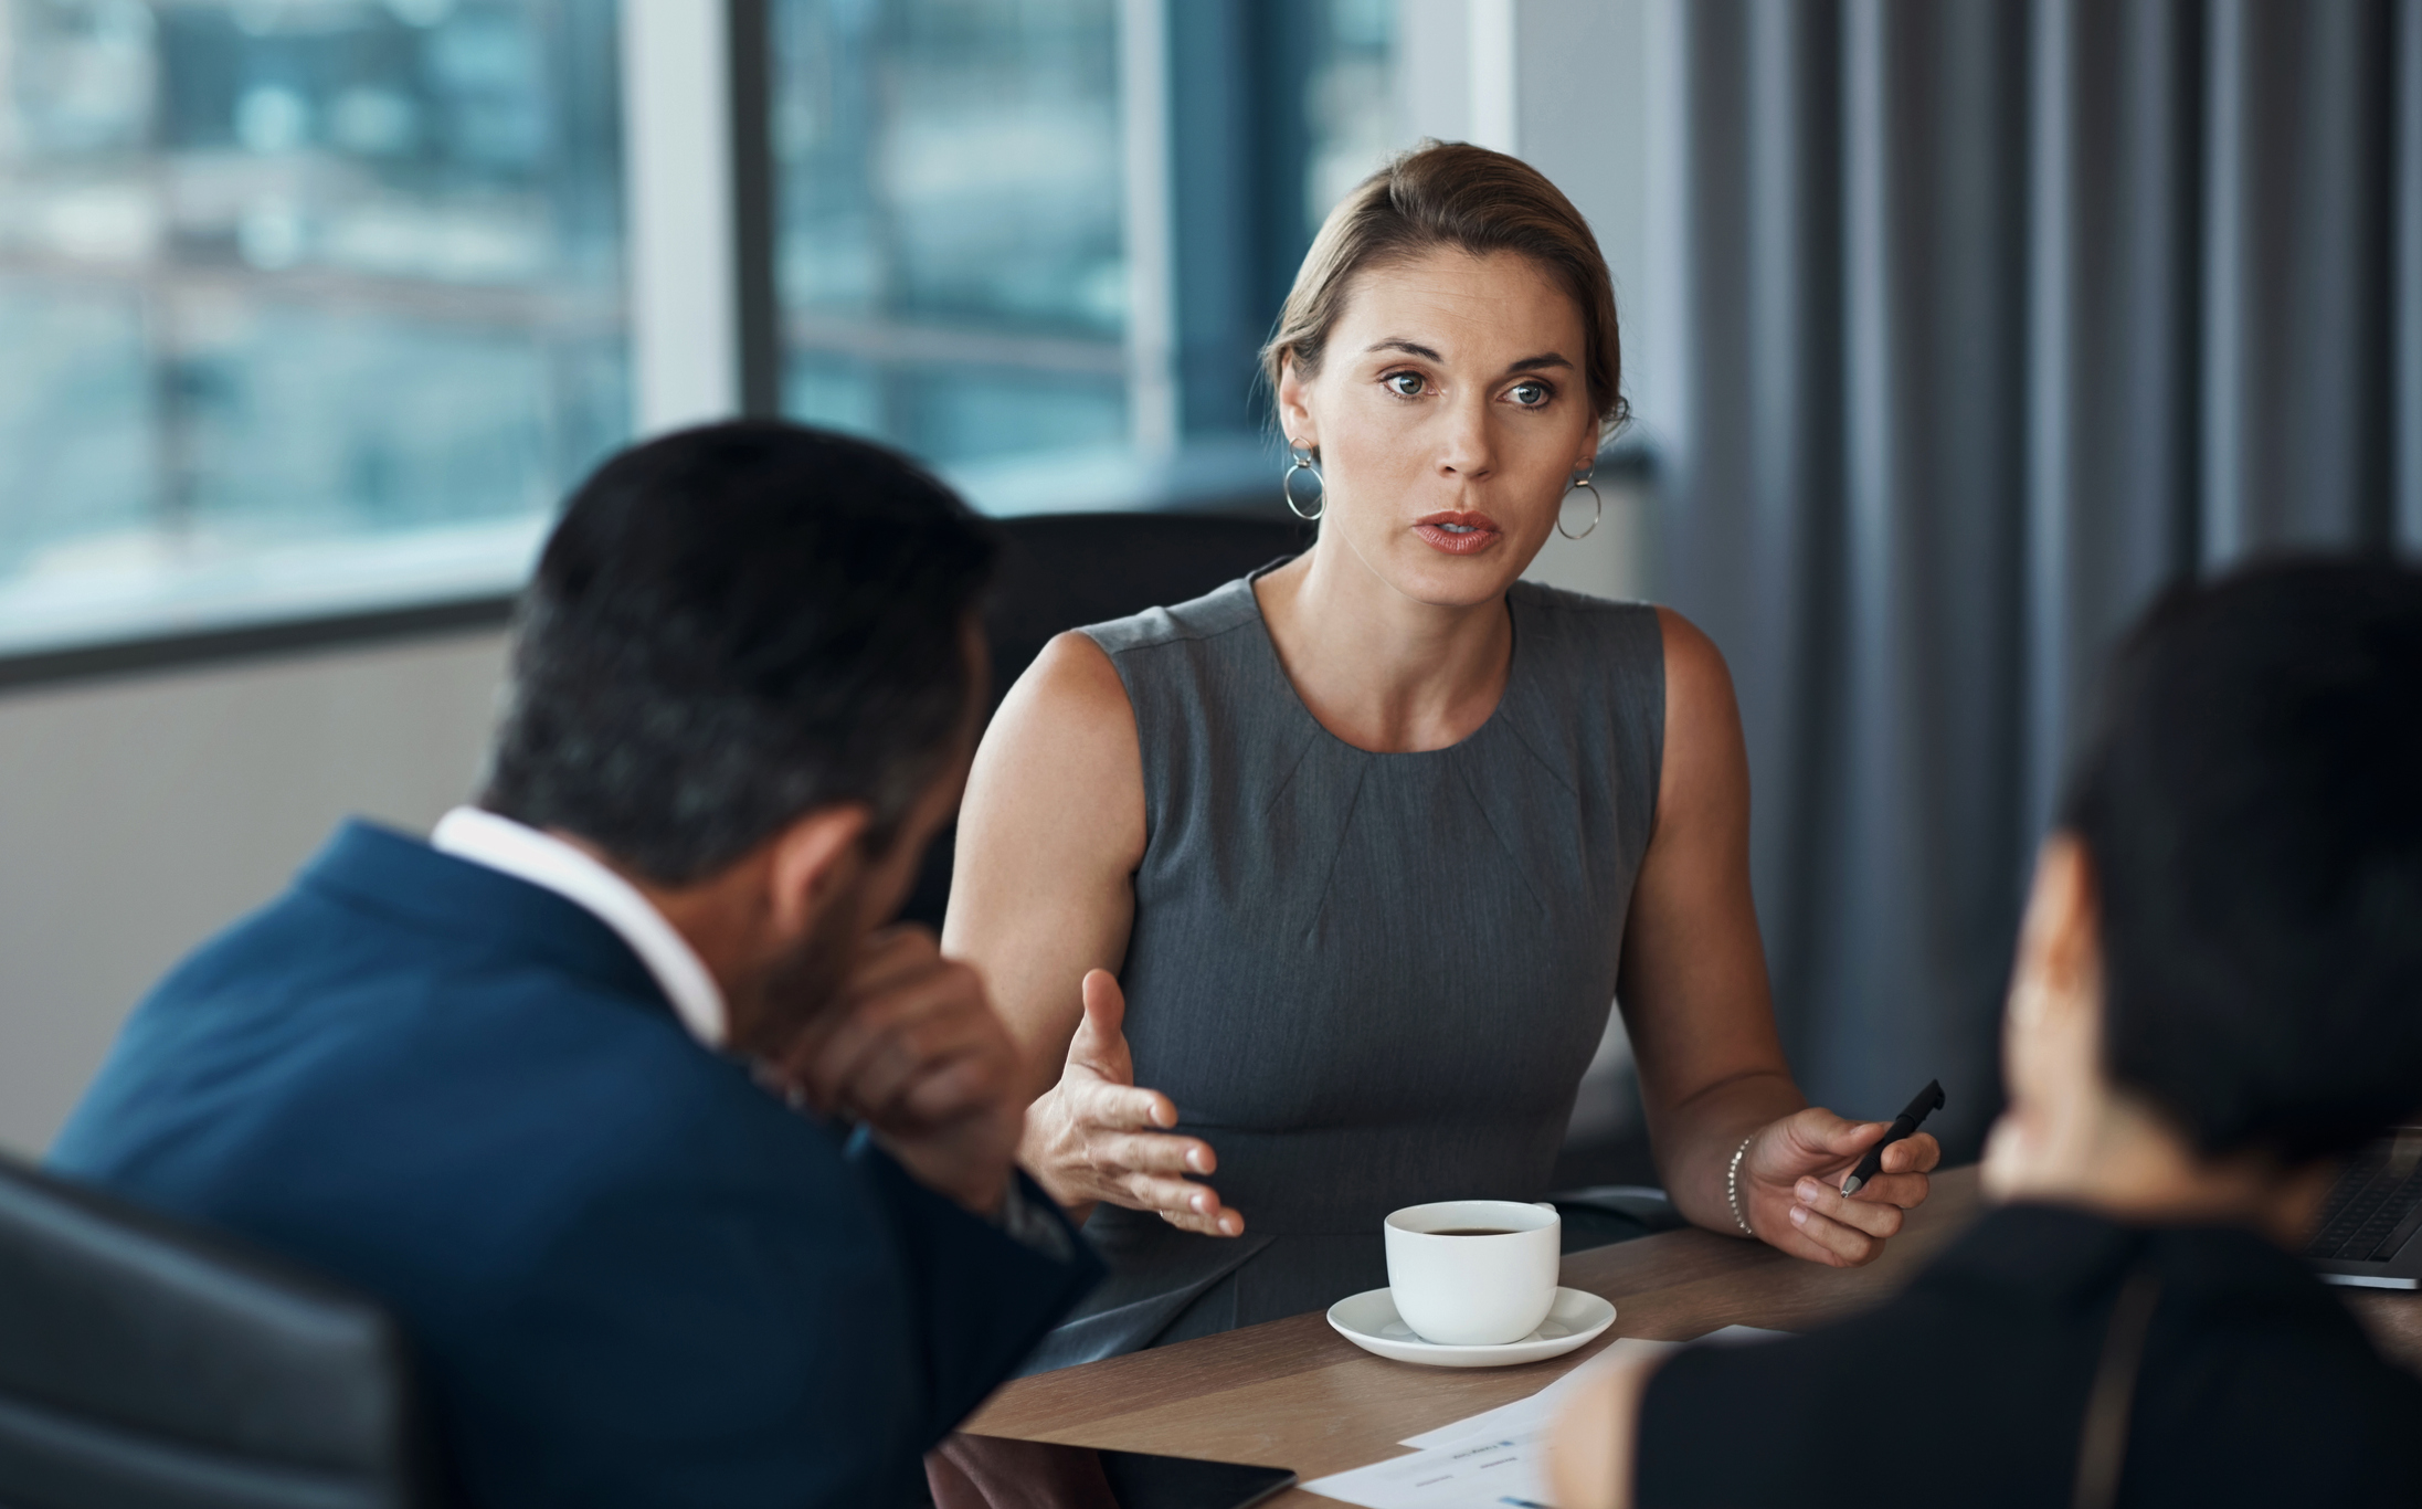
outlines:
M1695 0L1664 586L1732 659L1809 1092L1974 1153L2112 637L2422 547L2422 0Z

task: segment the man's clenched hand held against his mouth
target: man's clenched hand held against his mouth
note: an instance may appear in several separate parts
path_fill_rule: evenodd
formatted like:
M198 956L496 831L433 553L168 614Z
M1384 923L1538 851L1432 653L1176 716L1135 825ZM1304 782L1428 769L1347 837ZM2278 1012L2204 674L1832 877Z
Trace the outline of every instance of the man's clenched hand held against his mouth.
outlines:
M1025 1131L1017 1044L932 933L867 940L840 1003L782 1054L780 1075L816 1109L865 1121L925 1187L983 1216L1000 1209Z

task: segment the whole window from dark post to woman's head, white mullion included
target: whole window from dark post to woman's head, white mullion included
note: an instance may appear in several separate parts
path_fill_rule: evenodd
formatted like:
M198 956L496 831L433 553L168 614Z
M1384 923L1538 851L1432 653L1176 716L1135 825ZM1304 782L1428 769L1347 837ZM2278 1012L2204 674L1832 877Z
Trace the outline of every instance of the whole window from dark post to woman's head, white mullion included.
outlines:
M1393 0L775 0L785 409L993 511L1267 492L1252 351L1393 56Z

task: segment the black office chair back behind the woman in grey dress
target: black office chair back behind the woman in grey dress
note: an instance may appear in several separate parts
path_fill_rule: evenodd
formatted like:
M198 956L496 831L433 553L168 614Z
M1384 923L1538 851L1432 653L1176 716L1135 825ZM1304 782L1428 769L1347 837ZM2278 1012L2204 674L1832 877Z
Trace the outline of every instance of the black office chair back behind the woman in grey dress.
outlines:
M1313 543L1305 523L1284 513L1034 513L1003 518L1000 569L983 608L993 649L993 702L1000 707L1054 635L1199 598L1281 555ZM925 850L925 867L901 918L942 925L957 828Z

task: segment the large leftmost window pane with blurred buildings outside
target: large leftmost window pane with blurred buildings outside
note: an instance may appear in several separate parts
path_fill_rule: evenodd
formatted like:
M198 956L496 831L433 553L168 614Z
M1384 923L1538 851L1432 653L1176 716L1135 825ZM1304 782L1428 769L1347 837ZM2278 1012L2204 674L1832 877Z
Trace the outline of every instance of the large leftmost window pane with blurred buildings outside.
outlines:
M0 0L0 649L518 584L627 431L613 19Z

